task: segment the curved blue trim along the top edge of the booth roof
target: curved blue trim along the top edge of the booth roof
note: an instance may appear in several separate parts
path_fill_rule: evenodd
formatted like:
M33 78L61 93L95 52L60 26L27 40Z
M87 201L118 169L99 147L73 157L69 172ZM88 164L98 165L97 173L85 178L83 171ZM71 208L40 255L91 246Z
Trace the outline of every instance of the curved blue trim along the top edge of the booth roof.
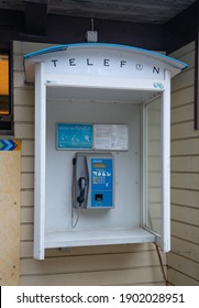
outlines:
M122 44L108 44L108 43L75 43L75 44L67 44L67 45L58 45L58 46L53 46L53 47L48 47L48 48L44 48L41 51L36 51L34 53L30 53L24 55L24 59L30 59L40 55L44 55L44 54L49 54L49 53L54 53L54 52L59 52L59 51L65 51L68 47L84 47L84 46L99 46L99 47L117 47L117 48L125 48L125 50L130 50L130 51L135 51L135 52L141 52L144 54L148 54L152 55L154 57L159 57L165 61L169 61L175 63L178 66L183 66L180 67L181 69L185 69L188 67L188 65L181 61L175 59L173 57L153 52L153 51L147 51L144 48L140 48L140 47L134 47L134 46L129 46L129 45L122 45Z

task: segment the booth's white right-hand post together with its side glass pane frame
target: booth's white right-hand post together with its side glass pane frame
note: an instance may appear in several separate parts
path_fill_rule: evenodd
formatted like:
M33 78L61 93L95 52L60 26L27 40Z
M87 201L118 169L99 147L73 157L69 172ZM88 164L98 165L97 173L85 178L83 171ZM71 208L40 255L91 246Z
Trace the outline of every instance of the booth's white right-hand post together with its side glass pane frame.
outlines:
M146 105L153 102L153 99L143 105L143 227L156 237L156 243L164 252L170 250L170 74L165 72L165 90L162 91L162 233L157 234L148 227L146 228L146 208L147 208L147 148L146 148Z

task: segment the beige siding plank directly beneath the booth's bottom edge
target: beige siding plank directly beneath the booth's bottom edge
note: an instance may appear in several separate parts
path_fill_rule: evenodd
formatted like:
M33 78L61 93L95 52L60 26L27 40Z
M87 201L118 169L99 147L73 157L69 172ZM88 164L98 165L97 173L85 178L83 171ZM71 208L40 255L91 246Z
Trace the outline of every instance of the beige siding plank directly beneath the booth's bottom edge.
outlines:
M143 266L158 266L159 260L156 251L136 253L113 253L99 255L80 255L67 257L21 261L21 275L51 275L69 273L88 273L100 271L114 271L115 268L136 268Z

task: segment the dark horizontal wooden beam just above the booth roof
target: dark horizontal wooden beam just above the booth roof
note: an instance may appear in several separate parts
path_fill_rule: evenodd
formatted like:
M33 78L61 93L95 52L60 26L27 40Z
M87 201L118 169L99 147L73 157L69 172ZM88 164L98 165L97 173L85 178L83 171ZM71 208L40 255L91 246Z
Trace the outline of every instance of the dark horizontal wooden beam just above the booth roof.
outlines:
M3 37L7 40L70 44L86 42L85 34L90 30L90 19L48 13L46 32L41 35L40 31L26 32L24 12L0 10L0 34L1 26ZM95 30L98 31L99 42L125 44L152 51L163 50L163 29L157 24L95 19Z

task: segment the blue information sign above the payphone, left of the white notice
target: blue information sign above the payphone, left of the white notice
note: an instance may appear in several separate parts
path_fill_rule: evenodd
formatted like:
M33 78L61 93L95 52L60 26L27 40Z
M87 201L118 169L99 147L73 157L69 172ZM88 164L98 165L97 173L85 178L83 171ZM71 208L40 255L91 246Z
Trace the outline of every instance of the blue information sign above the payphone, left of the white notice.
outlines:
M57 123L57 150L92 148L92 124Z

